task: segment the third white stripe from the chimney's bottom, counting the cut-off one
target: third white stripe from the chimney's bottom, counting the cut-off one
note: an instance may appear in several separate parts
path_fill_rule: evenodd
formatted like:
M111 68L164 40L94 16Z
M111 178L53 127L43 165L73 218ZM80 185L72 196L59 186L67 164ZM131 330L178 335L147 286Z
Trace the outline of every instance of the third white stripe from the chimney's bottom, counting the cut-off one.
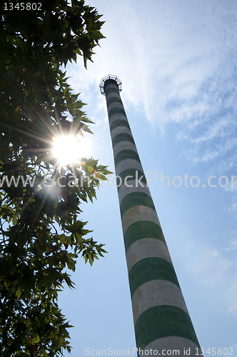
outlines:
M156 238L141 238L132 243L127 250L128 273L134 264L145 258L162 258L172 264L171 256L165 243Z

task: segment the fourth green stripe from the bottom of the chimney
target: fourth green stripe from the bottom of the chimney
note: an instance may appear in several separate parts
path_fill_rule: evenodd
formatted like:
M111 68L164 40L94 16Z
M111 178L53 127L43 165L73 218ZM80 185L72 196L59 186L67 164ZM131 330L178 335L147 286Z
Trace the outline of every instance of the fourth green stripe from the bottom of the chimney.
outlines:
M148 196L148 194L143 192L132 192L128 193L125 197L123 197L120 203L121 218L123 217L123 214L128 211L129 208L135 206L150 207L156 212L156 208L154 206L152 198Z

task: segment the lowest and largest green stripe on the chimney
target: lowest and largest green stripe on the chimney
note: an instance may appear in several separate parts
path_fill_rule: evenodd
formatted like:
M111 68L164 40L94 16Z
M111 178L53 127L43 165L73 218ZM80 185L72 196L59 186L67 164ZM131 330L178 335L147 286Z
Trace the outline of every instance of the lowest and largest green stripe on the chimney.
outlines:
M174 306L155 306L141 314L135 326L136 346L145 348L158 338L179 336L199 346L193 323L188 314Z

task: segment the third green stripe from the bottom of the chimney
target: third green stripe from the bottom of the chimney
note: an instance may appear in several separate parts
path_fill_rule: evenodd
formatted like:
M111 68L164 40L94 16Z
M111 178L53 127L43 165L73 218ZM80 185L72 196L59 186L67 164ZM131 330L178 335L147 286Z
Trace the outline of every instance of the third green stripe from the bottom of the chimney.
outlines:
M140 221L131 224L131 226L126 229L123 237L125 251L128 250L132 243L142 238L155 238L166 244L161 227L150 221Z

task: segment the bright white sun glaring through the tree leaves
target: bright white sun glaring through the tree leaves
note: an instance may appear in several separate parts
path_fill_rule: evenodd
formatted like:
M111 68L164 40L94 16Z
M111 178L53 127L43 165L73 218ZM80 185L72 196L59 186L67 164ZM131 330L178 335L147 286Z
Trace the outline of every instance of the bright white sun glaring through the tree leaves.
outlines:
M91 141L84 136L61 135L54 137L53 155L59 165L76 164L92 154Z

